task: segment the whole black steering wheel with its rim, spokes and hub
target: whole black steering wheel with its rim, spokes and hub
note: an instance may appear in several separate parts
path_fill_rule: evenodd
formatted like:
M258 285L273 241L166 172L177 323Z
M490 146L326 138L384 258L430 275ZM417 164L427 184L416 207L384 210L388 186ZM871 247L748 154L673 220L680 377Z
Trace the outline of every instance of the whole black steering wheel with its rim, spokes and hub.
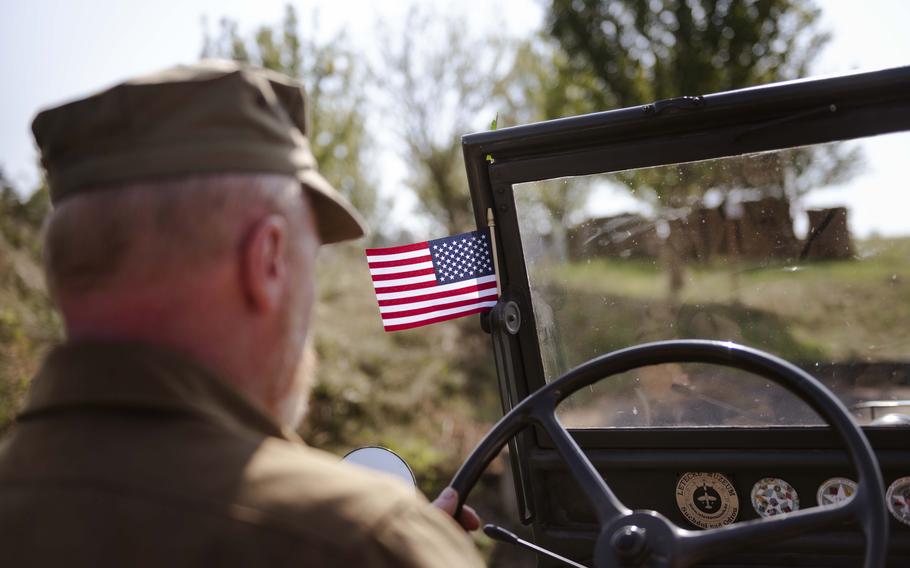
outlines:
M569 395L603 378L662 363L711 363L760 375L799 396L833 426L847 446L858 474L853 498L836 505L707 530L677 527L657 511L632 511L620 502L603 477L556 418L556 406ZM818 380L783 359L729 342L660 341L597 357L537 390L496 423L468 456L450 486L461 507L480 475L512 437L536 424L552 439L573 477L593 505L599 525L594 547L598 568L628 565L690 566L763 539L783 539L805 531L859 520L866 537L866 568L885 565L888 517L878 460L846 407ZM767 542L767 541L766 541Z

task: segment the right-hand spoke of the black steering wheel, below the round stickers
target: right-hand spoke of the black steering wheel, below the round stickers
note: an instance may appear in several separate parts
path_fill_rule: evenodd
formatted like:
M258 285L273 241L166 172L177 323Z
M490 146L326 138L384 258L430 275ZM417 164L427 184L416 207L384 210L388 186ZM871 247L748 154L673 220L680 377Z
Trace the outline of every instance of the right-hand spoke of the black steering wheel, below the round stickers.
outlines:
M742 521L704 531L678 530L676 565L689 566L706 558L742 550L755 542L780 541L858 518L856 499L839 505L813 507L779 517Z

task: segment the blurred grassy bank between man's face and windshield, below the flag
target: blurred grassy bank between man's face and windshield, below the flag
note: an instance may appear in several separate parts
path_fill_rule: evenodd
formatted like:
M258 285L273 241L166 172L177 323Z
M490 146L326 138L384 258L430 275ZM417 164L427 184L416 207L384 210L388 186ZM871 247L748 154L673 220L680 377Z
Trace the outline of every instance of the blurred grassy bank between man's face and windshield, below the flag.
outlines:
M343 451L400 451L428 490L441 487L499 412L489 337L476 317L386 333L363 251L320 260L318 386L305 437Z

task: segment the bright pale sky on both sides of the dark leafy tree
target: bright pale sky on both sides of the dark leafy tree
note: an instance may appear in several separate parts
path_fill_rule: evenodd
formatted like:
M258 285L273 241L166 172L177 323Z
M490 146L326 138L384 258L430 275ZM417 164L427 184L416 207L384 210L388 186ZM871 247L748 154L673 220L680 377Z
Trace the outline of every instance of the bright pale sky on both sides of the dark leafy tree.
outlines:
M465 15L475 32L522 35L537 29L543 16L541 0L422 3ZM241 33L249 33L259 25L280 22L285 4L286 0L0 0L0 70L4 78L0 167L17 189L30 191L38 180L30 123L39 109L133 75L197 60L204 18L213 32L218 20L226 16L238 22ZM910 2L820 0L818 4L823 25L834 39L815 74L910 64L910 33L906 31ZM370 49L375 21L382 19L394 26L409 3L311 0L294 5L301 16L310 7L317 8L320 31L327 36L344 28L359 47ZM394 191L402 183L403 167L394 163L392 152L379 159L379 168L389 173L382 176L382 189ZM899 185L893 181L890 185ZM895 190L889 199L910 204L908 194ZM894 216L893 205L878 213ZM877 213L872 210L868 215ZM906 225L896 218L894 222Z

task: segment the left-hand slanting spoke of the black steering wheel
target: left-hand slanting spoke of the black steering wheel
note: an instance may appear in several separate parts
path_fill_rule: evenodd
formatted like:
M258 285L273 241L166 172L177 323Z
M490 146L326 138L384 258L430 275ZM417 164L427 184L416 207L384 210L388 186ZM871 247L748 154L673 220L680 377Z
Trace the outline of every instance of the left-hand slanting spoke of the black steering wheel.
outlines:
M549 434L550 439L556 446L569 470L572 472L575 480L581 486L582 491L591 500L594 505L594 512L597 520L601 525L610 522L616 517L629 515L632 511L622 504L622 501L616 497L616 494L610 489L606 481L591 460L585 456L581 447L572 438L559 420L556 414L551 410L543 412L535 419L543 427L544 431Z

